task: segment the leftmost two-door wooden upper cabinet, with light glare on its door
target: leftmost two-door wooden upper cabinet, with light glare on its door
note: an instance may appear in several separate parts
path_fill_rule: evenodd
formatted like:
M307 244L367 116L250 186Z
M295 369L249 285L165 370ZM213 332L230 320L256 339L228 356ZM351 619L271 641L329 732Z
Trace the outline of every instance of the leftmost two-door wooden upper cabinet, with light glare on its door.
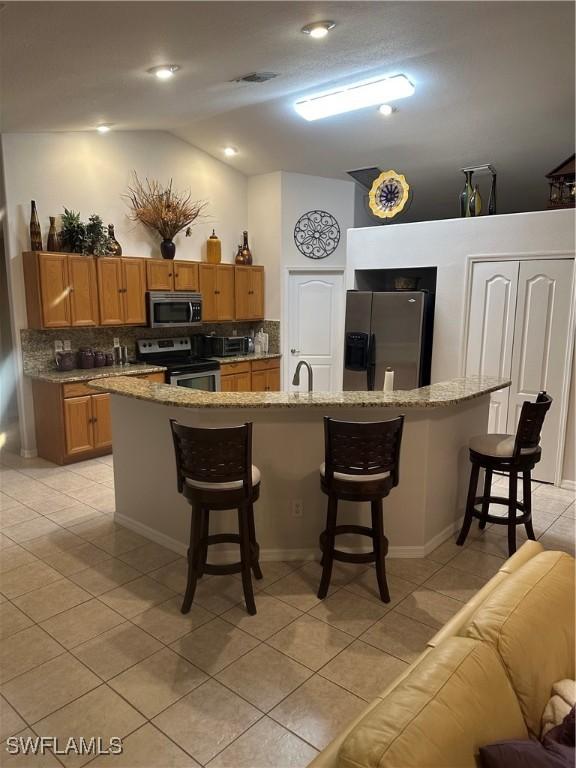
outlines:
M98 325L93 256L28 251L23 265L29 328Z

